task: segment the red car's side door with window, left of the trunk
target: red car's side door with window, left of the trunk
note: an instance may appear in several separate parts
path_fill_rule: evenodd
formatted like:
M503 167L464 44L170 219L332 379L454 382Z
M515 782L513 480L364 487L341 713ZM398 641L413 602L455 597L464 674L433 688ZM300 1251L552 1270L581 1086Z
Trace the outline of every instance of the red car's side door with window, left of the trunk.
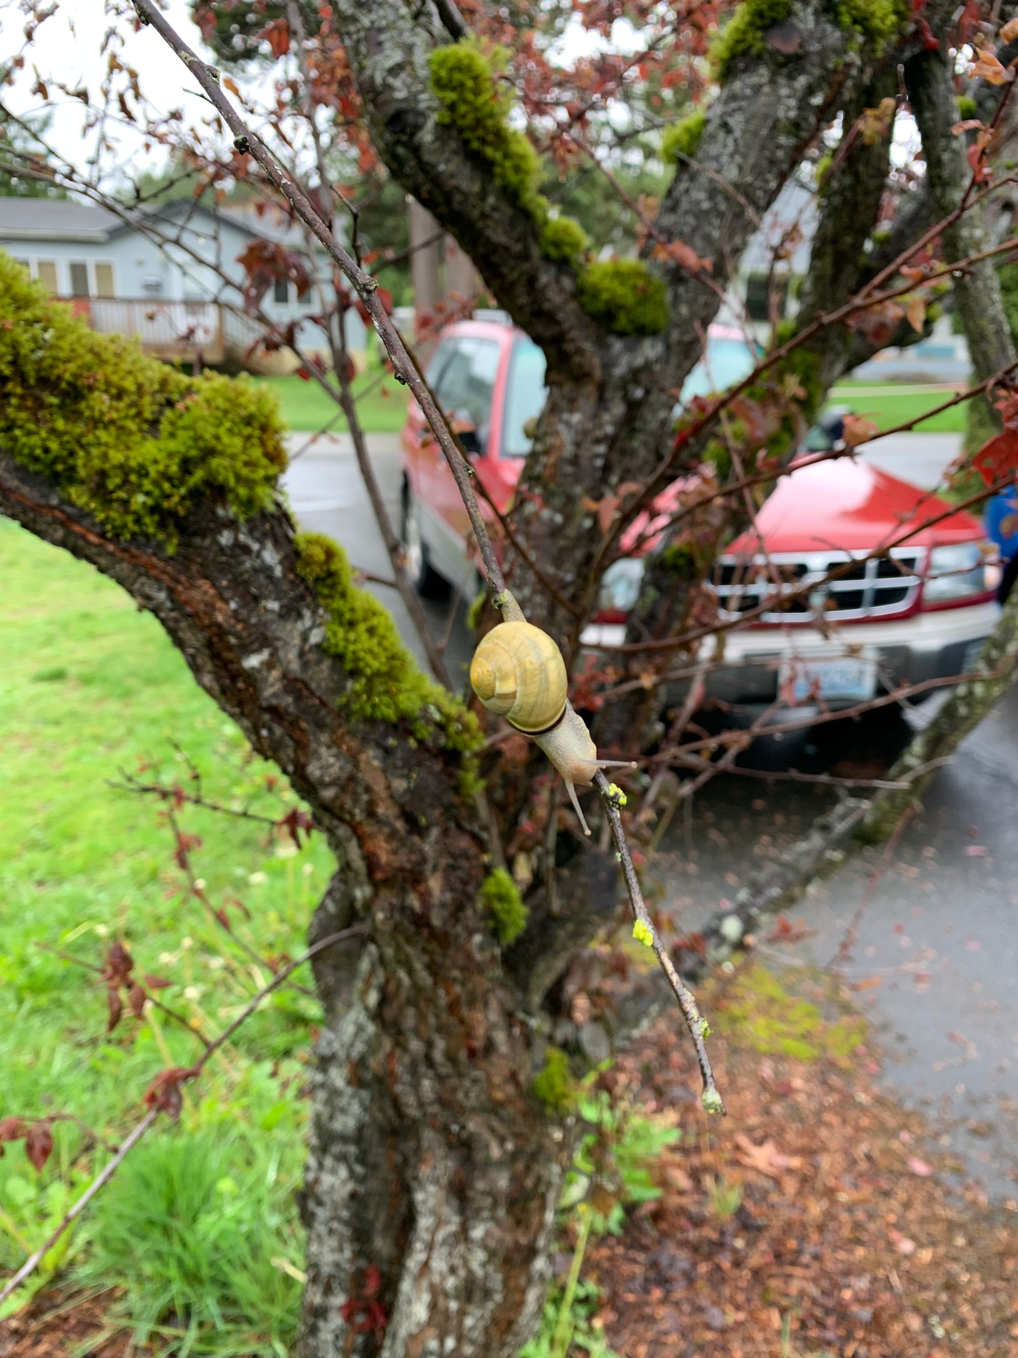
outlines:
M497 340L475 335L457 335L451 345L449 359L437 376L434 394L447 416L470 421L483 455L490 436L491 398L502 345ZM430 543L432 554L436 568L453 584L460 584L468 573L466 543L470 517L437 443L432 443L430 452L426 497L429 509L436 516L434 528L442 539Z

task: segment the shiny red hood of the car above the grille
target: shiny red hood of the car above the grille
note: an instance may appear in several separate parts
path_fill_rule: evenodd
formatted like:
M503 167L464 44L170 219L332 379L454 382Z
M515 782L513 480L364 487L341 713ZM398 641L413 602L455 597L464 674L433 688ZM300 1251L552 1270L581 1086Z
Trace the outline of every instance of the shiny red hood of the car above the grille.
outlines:
M983 536L977 519L956 509L919 486L899 481L856 458L808 463L775 486L756 515L772 553L873 551L909 532L908 546L934 547ZM741 534L728 549L734 555L759 550L753 531Z

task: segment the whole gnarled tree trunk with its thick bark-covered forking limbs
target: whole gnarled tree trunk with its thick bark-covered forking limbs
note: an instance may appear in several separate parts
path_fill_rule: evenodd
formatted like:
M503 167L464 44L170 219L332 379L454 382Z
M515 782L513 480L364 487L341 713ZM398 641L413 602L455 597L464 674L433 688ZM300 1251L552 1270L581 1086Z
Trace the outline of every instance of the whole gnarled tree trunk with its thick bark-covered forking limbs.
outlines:
M525 611L570 649L603 542L589 501L650 477L669 444L676 388L700 354L698 330L715 315L756 217L804 148L874 77L878 62L839 27L837 10L790 3L779 33L733 57L696 156L654 223L665 243L681 242L711 270L649 258L647 287L666 297L666 318L652 333L624 334L611 307L590 304L589 288L584 301L582 266L550 258L532 204L513 196L455 120L440 118L430 58L448 33L438 11L428 0L335 7L392 174L546 352L550 397L513 524L576 607L550 599L513 553L508 573ZM855 181L832 187L856 235L818 244L810 306L850 285L881 156L885 147ZM0 511L151 610L198 683L307 800L338 860L312 937L364 922L356 956L324 953L316 964L327 1023L303 1195L304 1358L512 1358L540 1304L570 1153L567 1120L535 1097L535 1074L551 1033L577 1063L604 1054L609 1028L624 1033L624 1016L600 1033L589 1023L577 1029L555 985L615 917L614 861L559 832L546 865L559 869L554 899L544 887L551 870L536 873L527 929L499 949L482 907L487 827L464 779L463 741L429 699L413 708L407 693L384 693L391 676L354 674L356 615L337 612L335 599L326 607L308 583L281 509L240 521L210 493L182 515L170 553L111 535L79 497L0 445ZM654 626L672 621L665 614ZM381 698L392 712L368 716L364 703ZM493 799L504 828L525 781Z

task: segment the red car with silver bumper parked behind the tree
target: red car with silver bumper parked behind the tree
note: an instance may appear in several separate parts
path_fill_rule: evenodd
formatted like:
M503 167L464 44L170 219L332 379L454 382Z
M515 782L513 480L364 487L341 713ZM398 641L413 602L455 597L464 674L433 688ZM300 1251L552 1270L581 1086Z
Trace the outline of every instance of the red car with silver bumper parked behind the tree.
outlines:
M711 326L704 361L683 397L722 390L753 361L738 331ZM449 326L428 378L463 430L478 479L508 509L529 451L529 422L544 405L544 354L495 314ZM744 534L706 581L722 619L774 604L704 642L707 655L725 660L707 686L715 697L772 702L782 694L791 705L848 706L878 689L964 672L996 622L999 568L980 523L956 511L922 527L949 505L858 458L810 464L810 452L831 447L832 430L828 421L812 432L802 464L760 509L763 549L755 534ZM493 517L483 501L482 512ZM916 531L903 540L909 528ZM403 428L403 545L418 589L452 584L472 596L468 532L452 474L411 401ZM832 570L837 579L821 583ZM639 555L609 568L585 645L623 640L642 573ZM802 593L812 581L816 587ZM786 598L793 591L795 598Z

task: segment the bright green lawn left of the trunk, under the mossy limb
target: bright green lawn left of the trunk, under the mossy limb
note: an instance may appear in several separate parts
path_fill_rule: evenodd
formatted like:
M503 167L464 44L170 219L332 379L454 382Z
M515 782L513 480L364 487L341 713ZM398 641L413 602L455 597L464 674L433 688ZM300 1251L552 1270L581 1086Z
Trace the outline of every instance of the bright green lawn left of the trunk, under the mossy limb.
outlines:
M115 1142L167 1065L197 1042L168 1019L126 1016L109 1036L105 986L45 948L100 964L114 938L168 1005L219 1031L267 979L182 889L170 831L148 800L110 786L157 762L210 797L277 816L296 801L194 683L160 626L90 566L0 519L0 1116L73 1112ZM261 956L295 955L333 870L320 837L299 853L250 822L183 808L195 872ZM309 975L297 979L309 985ZM293 1206L314 999L282 989L189 1088L181 1122L149 1133L96 1210L46 1260L126 1289L174 1353L281 1354L292 1342L303 1236ZM105 1161L68 1123L42 1171L22 1145L0 1165L0 1270L16 1267ZM194 1226L200 1229L193 1229ZM76 1274L77 1271L77 1274ZM12 1298L20 1304L27 1290ZM12 1309L8 1304L7 1309Z

